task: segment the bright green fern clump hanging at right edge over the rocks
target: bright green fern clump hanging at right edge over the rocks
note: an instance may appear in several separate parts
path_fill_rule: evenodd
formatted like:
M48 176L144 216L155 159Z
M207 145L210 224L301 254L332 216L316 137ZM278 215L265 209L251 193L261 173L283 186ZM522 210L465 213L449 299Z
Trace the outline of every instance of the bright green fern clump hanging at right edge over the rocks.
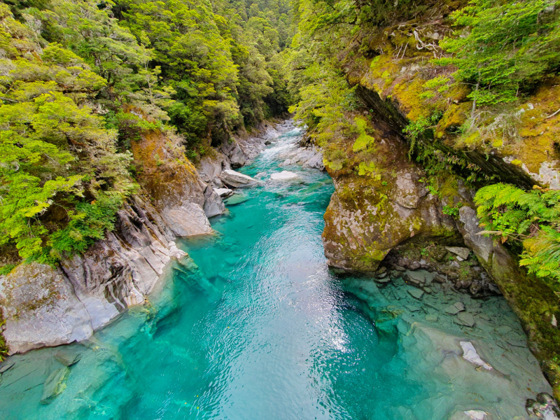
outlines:
M498 183L478 190L477 213L488 235L521 241L520 265L560 281L560 191L524 191Z

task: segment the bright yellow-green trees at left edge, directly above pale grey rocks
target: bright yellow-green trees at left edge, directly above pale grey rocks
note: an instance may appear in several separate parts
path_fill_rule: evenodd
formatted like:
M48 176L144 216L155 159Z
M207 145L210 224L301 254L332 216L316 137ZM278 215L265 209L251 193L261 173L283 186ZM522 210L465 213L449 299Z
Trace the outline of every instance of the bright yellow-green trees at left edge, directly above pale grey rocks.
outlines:
M0 5L0 12L8 28L0 31L0 42L9 54L2 59L8 71L0 80L0 244L15 244L22 258L54 262L60 254L52 255L53 249L83 251L78 242L101 237L83 202L105 195L122 200L130 193L131 158L117 153L116 132L81 104L102 90L105 80L59 44L41 54L29 41L31 31L6 6ZM22 43L34 54L12 48ZM110 223L116 208L102 203ZM78 217L82 237L76 246L59 245L64 227Z

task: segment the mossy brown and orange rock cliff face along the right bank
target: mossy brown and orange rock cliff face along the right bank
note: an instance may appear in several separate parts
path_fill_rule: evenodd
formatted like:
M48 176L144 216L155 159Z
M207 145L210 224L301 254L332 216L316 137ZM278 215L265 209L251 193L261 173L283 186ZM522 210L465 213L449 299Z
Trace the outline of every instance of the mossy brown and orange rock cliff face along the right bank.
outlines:
M437 50L437 32L445 29L441 22L422 22L421 29L414 23L399 25L384 36L356 41L339 57L377 133L377 152L372 156L376 178L360 176L357 170L330 170L336 192L325 213L325 255L333 267L375 275L386 268L423 269L474 296L503 293L521 319L531 350L558 398L560 370L554 361L560 353L557 297L543 281L519 269L504 246L478 235L482 229L472 203L474 192L451 173L459 162L454 167L459 173L462 165L486 179L494 177L524 188L535 184L559 188L559 160L552 135L560 121L556 120L560 114L552 115L559 107L552 97L558 87L543 87L516 111L523 141L493 141L484 148L461 148L454 143L454 132L470 108L463 104L465 92L448 92L449 97L444 98L447 111L434 128L433 138L418 139L423 142L421 147L450 169L448 175L438 175L437 192L428 191L428 174L416 164L414 155L409 158L410 144L402 132L410 120L430 115L419 98L426 80L442 76L424 59L433 54L433 48ZM395 55L402 49L399 36L413 33L420 40L416 48L412 45L413 51L406 56ZM433 48L423 50L428 43ZM458 214L444 214L449 207L458 209ZM471 253L461 258L449 248L468 248ZM421 275L415 276L405 279L423 290L426 284L416 279Z

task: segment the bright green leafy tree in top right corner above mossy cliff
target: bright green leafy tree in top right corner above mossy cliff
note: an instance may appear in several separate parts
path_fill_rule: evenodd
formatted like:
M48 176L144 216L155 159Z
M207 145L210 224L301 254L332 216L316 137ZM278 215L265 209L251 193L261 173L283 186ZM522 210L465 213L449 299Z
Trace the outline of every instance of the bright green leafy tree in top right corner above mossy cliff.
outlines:
M458 68L477 105L512 102L560 65L558 10L547 0L472 0L451 15L459 29L442 43L454 57L437 62Z

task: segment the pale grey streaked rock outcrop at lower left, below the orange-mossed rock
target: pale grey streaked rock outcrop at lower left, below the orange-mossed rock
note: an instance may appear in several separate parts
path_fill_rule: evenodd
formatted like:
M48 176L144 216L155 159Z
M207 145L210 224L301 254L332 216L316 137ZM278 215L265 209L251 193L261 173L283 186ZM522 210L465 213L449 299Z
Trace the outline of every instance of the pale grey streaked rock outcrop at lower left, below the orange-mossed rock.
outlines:
M80 341L127 307L141 304L172 258L186 258L170 228L139 197L117 214L115 230L60 267L20 265L0 277L10 353Z

